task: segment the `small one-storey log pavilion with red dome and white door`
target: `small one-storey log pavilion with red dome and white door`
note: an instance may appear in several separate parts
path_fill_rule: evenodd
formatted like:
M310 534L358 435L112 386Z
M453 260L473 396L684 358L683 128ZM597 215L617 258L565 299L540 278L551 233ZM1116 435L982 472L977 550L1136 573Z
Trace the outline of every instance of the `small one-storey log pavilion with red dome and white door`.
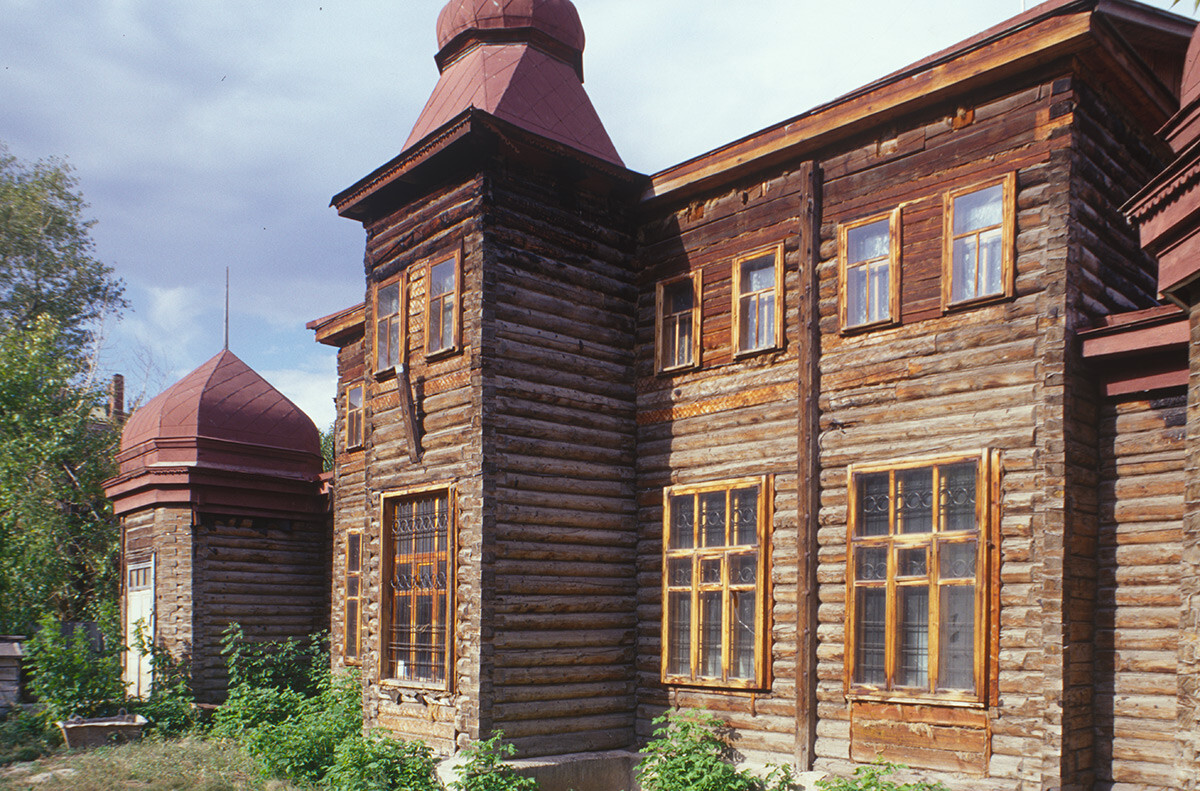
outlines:
M121 523L125 682L152 682L144 639L224 700L221 636L307 637L329 624L329 505L317 426L228 349L138 408L104 483Z

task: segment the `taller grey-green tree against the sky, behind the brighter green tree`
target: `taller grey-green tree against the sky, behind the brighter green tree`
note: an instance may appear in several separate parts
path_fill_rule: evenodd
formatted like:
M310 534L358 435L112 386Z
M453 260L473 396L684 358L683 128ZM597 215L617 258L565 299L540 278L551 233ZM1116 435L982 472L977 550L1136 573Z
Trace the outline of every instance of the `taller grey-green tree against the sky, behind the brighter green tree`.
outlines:
M86 209L61 160L26 166L0 143L0 329L59 324L59 352L89 350L98 323L127 304L112 268L97 260Z

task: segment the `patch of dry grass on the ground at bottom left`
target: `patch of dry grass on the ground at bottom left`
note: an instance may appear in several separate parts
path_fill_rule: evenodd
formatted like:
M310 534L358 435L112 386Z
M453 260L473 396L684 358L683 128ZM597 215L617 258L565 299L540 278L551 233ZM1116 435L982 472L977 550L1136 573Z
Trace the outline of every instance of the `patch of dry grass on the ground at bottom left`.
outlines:
M250 755L232 742L184 737L61 751L31 763L0 768L0 791L25 789L301 791L306 786L263 778Z

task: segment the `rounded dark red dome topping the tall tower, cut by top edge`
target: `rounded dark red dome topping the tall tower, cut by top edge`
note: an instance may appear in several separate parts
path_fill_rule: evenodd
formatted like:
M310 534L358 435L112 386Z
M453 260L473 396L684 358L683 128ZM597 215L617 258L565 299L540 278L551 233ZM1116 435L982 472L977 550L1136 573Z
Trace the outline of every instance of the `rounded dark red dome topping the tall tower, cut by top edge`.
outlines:
M583 52L583 24L571 0L450 0L438 14L438 49L467 30L520 28Z

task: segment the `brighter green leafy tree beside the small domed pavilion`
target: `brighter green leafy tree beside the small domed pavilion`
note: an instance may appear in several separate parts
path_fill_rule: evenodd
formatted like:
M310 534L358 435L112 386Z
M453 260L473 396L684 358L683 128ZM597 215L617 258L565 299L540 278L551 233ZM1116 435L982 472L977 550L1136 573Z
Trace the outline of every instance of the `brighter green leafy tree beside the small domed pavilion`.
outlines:
M47 316L0 332L0 629L79 621L116 593L116 529L101 486L116 431L77 383Z

